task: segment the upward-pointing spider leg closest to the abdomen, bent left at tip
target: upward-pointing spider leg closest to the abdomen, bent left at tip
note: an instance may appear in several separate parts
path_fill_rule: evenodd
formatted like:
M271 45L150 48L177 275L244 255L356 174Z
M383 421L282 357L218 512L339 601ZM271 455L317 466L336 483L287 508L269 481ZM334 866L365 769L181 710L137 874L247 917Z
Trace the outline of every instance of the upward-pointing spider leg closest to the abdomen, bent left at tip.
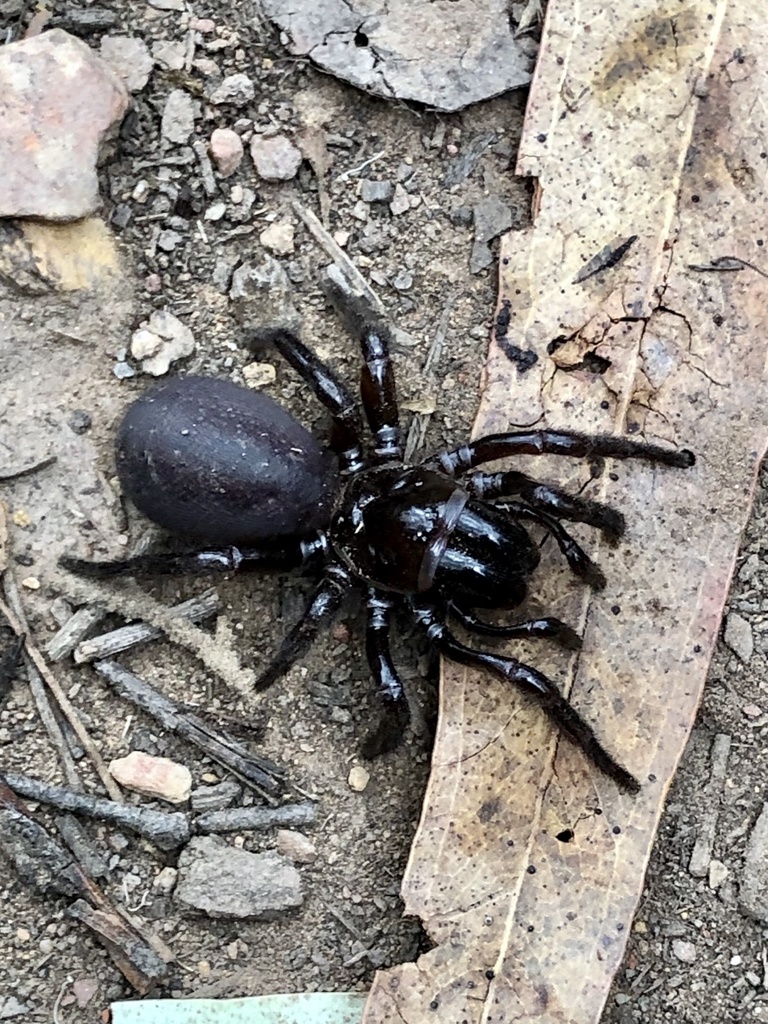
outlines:
M316 398L333 418L334 430L331 446L339 456L344 473L354 473L362 468L362 439L360 422L354 398L346 385L330 367L307 348L293 331L285 328L266 328L251 335L251 347L259 344L273 345L287 362L306 381Z

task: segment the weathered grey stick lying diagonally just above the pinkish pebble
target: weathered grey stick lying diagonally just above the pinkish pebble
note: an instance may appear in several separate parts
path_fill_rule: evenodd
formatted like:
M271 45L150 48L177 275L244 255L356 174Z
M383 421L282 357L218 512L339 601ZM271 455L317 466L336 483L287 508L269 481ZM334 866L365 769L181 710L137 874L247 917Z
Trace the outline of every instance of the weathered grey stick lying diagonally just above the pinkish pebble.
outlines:
M175 732L200 746L208 757L233 772L252 788L258 790L265 800L274 803L269 794L283 788L284 782L283 769L273 762L250 754L227 732L214 729L117 662L98 662L94 669L112 683L121 696L152 715L169 732Z

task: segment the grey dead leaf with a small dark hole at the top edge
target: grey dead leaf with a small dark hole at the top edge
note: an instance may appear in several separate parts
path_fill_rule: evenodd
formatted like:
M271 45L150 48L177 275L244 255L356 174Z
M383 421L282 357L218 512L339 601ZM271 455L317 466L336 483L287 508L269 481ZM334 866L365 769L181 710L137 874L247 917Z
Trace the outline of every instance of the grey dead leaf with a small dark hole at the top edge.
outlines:
M527 85L507 0L263 0L289 49L388 99L458 111Z

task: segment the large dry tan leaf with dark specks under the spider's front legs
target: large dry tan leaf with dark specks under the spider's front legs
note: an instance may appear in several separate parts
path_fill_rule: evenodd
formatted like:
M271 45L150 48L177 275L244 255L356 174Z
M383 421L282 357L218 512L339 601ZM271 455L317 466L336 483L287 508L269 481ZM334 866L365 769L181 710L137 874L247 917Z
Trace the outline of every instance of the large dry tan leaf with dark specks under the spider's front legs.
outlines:
M435 948L377 977L366 1024L599 1019L766 445L768 281L738 261L762 262L768 223L768 17L751 0L553 0L547 17L517 168L537 210L503 247L509 335L475 432L638 432L697 454L693 470L609 463L590 484L630 524L615 551L578 530L607 590L537 578L585 648L524 652L643 788L618 793L517 694L446 666L403 883ZM521 372L512 343L536 364ZM565 462L524 468L586 482Z

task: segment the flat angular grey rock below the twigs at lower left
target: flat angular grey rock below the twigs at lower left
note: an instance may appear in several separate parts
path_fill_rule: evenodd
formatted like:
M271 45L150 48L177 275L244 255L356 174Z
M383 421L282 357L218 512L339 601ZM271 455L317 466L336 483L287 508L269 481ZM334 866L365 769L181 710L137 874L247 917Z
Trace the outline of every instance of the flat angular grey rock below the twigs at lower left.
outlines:
M270 921L301 906L299 872L272 850L249 853L216 836L194 839L178 860L174 899L210 918Z

